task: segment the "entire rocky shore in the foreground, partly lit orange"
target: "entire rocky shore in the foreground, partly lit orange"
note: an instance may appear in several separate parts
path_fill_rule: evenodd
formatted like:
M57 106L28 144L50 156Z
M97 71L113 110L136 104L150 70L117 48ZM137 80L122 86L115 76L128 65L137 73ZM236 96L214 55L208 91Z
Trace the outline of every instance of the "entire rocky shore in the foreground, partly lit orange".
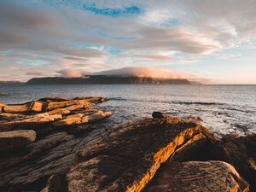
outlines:
M159 112L113 126L107 101L0 103L0 191L256 191L256 136Z

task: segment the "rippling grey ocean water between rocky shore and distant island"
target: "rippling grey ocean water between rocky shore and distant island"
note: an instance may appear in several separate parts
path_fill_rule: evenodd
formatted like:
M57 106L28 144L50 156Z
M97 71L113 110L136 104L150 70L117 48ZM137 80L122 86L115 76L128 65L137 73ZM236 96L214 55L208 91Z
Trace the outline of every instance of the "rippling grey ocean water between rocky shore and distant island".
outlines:
M1 85L3 103L22 103L46 96L106 96L98 108L114 112L111 121L150 117L154 111L195 115L218 134L256 133L256 85L72 84Z

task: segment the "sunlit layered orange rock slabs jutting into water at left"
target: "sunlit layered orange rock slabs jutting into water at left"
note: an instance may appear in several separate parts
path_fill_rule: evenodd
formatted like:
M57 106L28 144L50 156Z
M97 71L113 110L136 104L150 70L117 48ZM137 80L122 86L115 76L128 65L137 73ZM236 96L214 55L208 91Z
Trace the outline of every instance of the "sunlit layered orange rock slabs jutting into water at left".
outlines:
M67 100L46 97L20 105L1 105L0 131L14 131L47 126L82 125L112 115L92 108L92 104L108 101L105 97L76 97ZM81 114L79 117L76 113ZM73 118L71 118L73 116Z

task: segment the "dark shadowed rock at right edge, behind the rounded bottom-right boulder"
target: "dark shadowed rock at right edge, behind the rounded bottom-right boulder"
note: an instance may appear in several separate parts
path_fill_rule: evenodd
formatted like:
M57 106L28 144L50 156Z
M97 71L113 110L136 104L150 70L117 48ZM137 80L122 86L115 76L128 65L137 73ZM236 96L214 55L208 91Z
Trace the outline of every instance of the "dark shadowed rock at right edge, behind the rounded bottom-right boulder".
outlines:
M250 184L250 191L256 191L256 135L236 137L224 136L211 140L200 147L190 147L175 155L175 161L188 160L222 160L236 168L241 177Z

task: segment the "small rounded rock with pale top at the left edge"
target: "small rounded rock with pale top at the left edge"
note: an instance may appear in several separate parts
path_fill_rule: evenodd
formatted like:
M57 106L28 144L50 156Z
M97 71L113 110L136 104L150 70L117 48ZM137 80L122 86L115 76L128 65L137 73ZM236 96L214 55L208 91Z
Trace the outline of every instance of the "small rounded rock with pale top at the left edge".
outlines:
M32 130L0 132L0 150L20 148L36 140L37 134Z

